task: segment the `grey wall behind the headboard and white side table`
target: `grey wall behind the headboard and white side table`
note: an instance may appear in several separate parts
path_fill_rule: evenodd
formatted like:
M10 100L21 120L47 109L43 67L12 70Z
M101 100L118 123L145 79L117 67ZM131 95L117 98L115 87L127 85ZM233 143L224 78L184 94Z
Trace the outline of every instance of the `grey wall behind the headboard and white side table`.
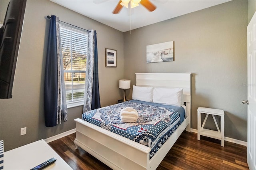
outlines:
M198 107L223 109L225 136L247 141L247 23L248 1L231 1L125 32L124 75L135 84L135 73L193 73L192 128ZM174 61L146 63L146 45L168 41Z

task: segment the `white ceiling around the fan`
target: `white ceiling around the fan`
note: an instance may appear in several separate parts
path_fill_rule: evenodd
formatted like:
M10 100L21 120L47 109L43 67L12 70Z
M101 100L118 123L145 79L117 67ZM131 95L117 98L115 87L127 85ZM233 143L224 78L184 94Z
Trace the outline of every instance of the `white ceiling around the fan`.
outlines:
M119 14L112 14L119 0L51 1L107 26L126 32L130 30L130 27L133 30L230 0L150 0L156 6L156 10L149 12L144 6L140 5L132 8L131 14L127 8L122 8Z

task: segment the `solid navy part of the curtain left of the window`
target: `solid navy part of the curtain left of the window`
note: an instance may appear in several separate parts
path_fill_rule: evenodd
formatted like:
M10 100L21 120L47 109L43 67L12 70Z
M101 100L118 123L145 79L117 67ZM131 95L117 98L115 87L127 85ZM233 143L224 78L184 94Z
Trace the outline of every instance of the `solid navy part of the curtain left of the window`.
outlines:
M57 40L56 40L56 16L52 15L48 35L48 46L46 52L46 65L44 76L44 117L45 126L53 127L57 125Z

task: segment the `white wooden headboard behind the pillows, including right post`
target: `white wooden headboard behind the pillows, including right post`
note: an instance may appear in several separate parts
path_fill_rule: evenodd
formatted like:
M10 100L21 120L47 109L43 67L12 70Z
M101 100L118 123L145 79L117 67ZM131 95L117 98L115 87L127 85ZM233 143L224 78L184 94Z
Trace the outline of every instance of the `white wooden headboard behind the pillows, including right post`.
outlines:
M186 102L186 117L191 111L191 73L136 73L136 85L144 87L183 88L183 100ZM190 128L187 128L190 131Z

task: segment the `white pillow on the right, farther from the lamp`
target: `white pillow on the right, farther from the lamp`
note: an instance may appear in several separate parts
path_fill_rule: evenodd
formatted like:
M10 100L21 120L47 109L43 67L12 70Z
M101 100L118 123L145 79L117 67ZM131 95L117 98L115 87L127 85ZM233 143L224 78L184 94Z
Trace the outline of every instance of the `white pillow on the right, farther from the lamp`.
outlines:
M182 88L162 88L154 87L153 102L163 105L183 105L183 89Z

